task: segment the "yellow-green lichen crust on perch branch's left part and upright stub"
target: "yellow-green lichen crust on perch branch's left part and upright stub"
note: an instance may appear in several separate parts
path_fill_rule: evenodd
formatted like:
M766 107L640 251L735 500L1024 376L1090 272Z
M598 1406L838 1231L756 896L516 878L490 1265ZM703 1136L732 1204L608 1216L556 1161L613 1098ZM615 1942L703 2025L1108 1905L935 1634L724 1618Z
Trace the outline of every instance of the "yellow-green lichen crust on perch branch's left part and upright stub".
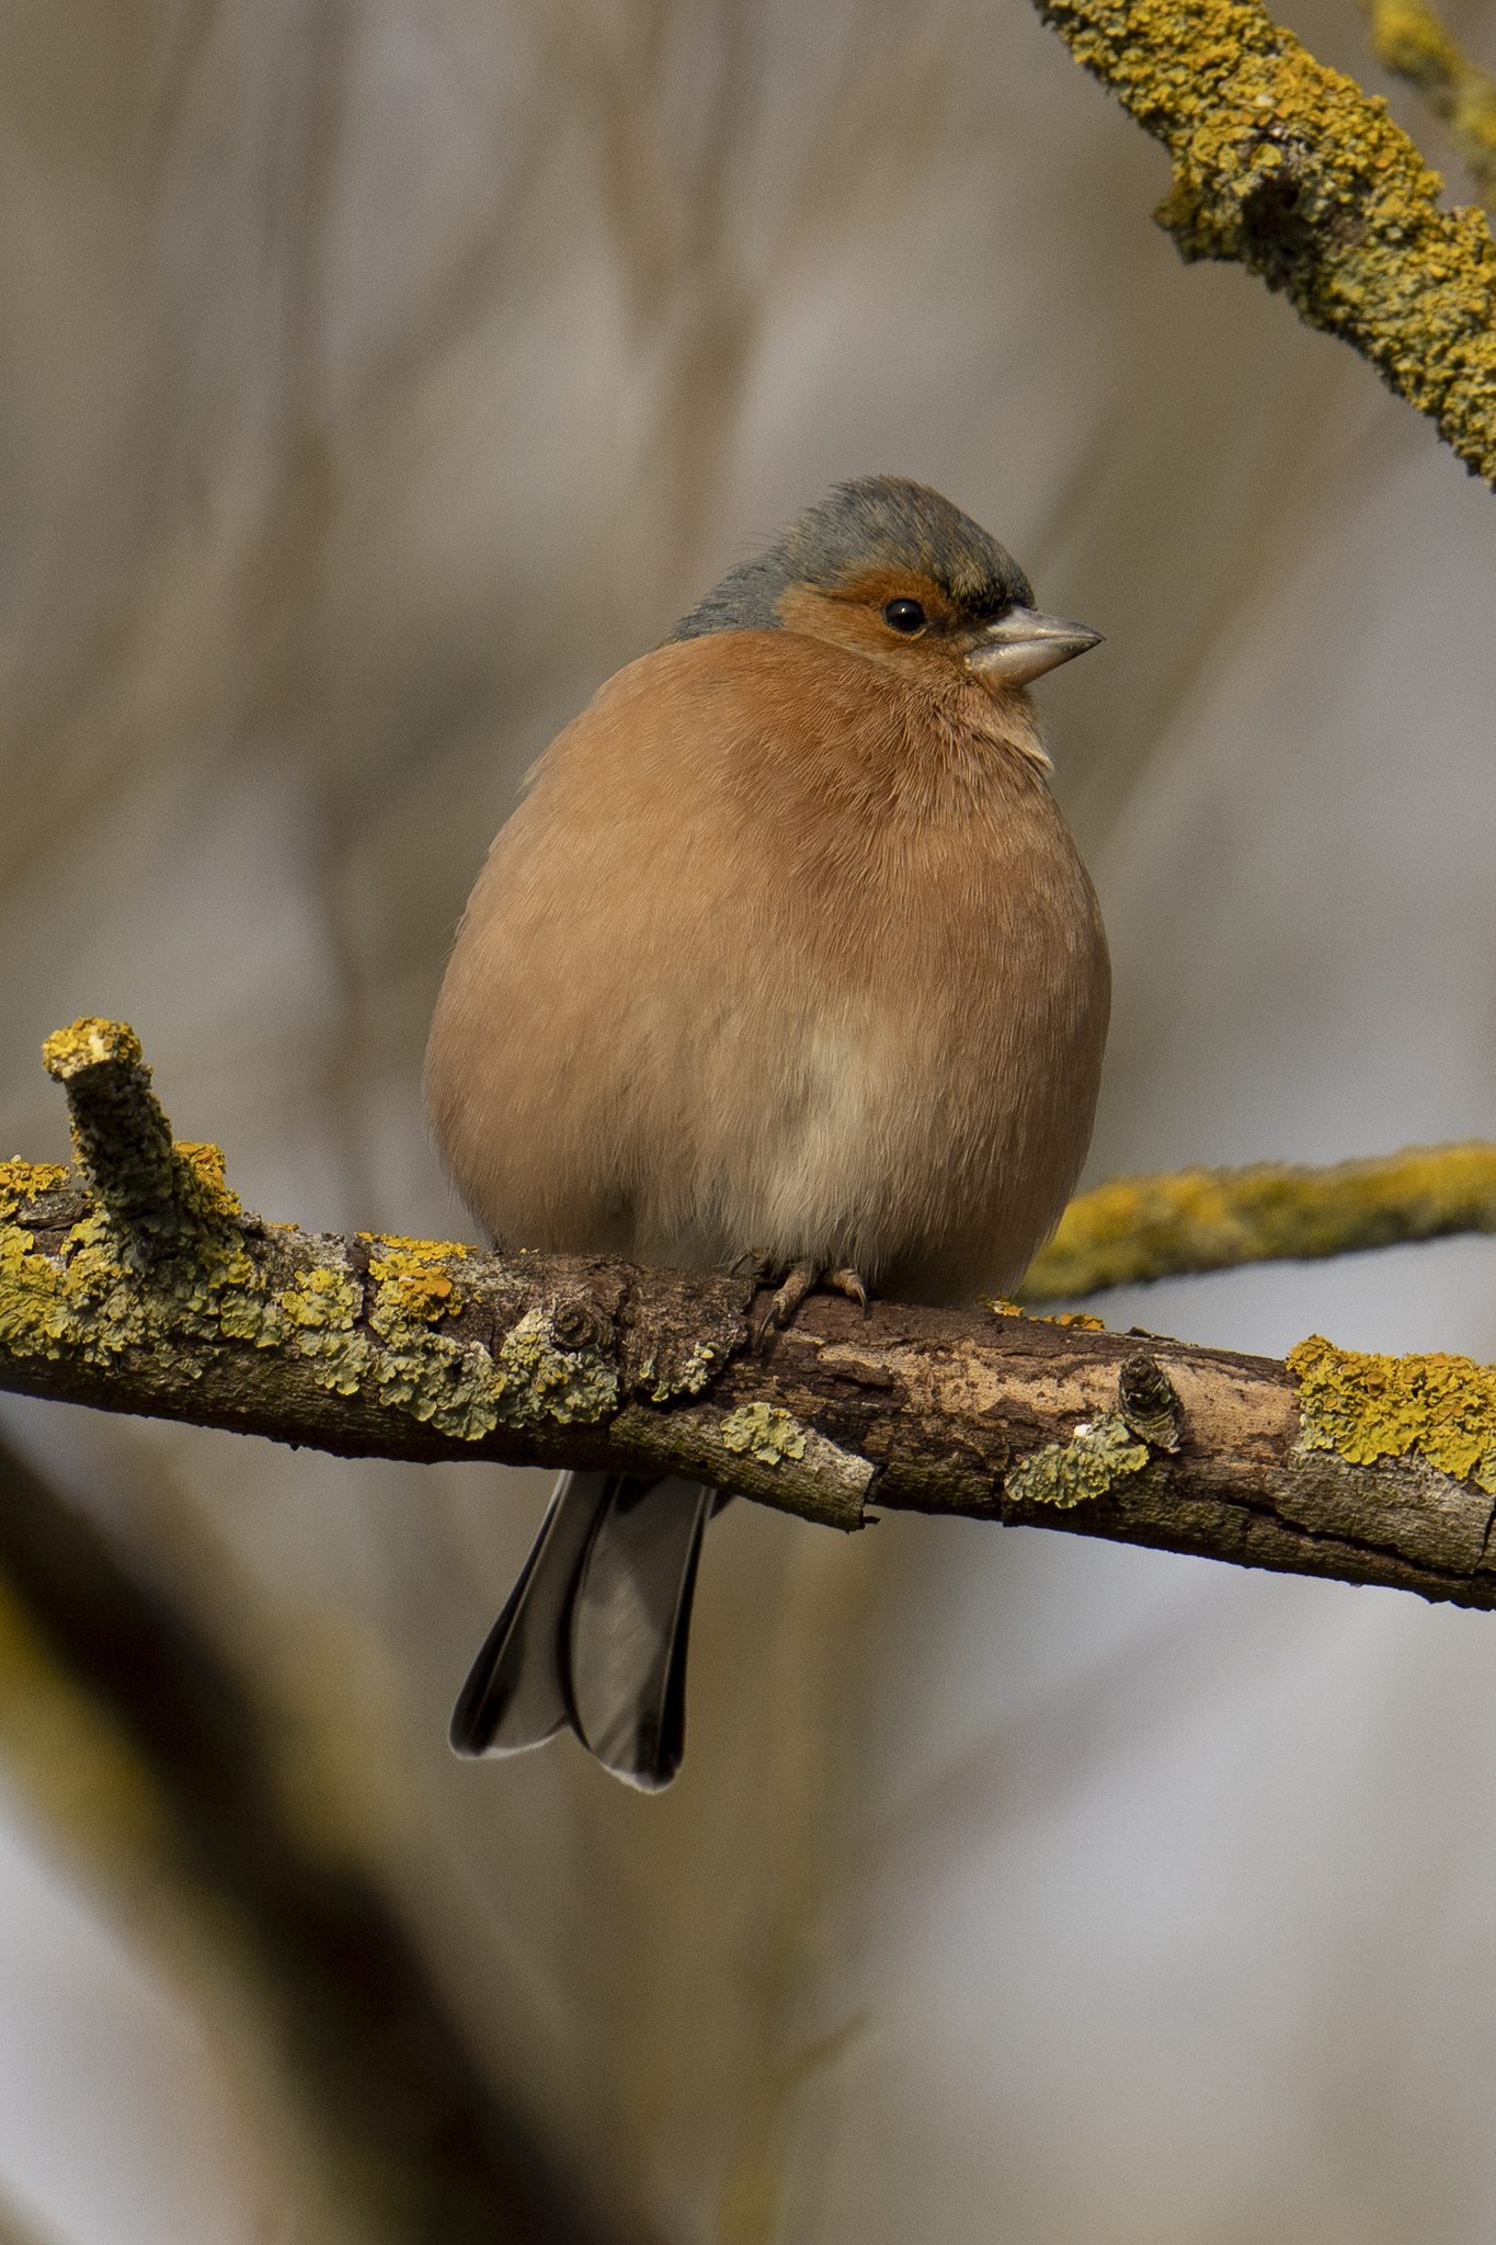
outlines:
M363 1268L341 1241L247 1224L220 1149L173 1145L126 1024L74 1021L45 1057L67 1091L90 1201L43 1248L11 1219L70 1172L0 1167L0 1347L11 1358L105 1365L135 1351L197 1378L222 1343L283 1347L330 1394L372 1396L458 1441L500 1419L597 1423L617 1410L612 1329L588 1300L529 1311L493 1356L487 1336L458 1338L469 1253L458 1241L366 1233ZM704 1376L700 1358L686 1360L686 1390Z

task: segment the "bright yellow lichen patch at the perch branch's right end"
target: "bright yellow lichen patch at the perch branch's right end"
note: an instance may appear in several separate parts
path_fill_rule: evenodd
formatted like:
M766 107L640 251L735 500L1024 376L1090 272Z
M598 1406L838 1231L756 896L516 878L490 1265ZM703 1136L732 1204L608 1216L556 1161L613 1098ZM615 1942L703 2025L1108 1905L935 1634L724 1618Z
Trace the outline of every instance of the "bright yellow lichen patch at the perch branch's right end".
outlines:
M1299 1381L1299 1441L1352 1466L1424 1457L1496 1495L1496 1369L1469 1356L1368 1356L1321 1334L1287 1354Z

